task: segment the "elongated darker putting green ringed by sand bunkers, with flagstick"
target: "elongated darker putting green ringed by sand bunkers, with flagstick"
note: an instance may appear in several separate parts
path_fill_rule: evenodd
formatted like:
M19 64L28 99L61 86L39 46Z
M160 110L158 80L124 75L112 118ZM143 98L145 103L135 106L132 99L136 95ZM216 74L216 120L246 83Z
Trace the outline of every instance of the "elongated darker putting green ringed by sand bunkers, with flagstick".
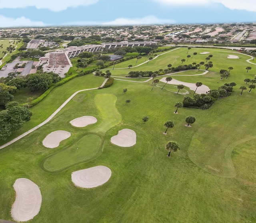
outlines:
M43 168L49 172L58 172L90 160L100 155L102 142L102 138L96 134L82 136L74 144L46 158Z

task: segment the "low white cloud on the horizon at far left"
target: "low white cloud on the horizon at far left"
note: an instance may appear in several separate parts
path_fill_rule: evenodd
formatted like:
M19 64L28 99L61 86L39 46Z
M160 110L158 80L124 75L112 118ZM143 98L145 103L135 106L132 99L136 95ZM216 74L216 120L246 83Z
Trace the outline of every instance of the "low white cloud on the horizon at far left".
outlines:
M20 18L8 18L0 15L0 27L17 27L17 26L46 26L43 22L33 22L24 16Z

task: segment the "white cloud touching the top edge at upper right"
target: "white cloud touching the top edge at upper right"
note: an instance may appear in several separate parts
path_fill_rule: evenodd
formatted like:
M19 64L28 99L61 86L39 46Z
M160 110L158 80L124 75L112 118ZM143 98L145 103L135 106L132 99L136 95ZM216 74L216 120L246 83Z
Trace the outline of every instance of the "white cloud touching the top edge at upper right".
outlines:
M226 8L231 10L238 9L238 10L247 10L256 12L256 4L255 0L153 0L155 2L161 4L167 4L170 6L193 6L193 5L202 5L202 4L209 4L212 2L223 4Z

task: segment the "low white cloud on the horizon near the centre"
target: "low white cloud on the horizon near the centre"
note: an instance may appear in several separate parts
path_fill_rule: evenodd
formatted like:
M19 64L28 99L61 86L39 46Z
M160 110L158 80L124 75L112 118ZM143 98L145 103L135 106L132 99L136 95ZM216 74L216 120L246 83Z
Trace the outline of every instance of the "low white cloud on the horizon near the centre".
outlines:
M114 21L104 22L102 25L148 25L148 24L171 24L174 20L162 20L155 16L146 16L144 18L118 18Z

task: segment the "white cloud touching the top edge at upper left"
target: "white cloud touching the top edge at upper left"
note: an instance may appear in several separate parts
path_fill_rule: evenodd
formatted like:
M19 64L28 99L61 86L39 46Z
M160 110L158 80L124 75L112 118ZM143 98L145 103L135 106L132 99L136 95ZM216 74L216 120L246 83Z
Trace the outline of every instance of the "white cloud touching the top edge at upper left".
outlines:
M37 9L49 9L55 12L66 10L68 7L88 6L98 0L11 0L1 1L0 8L26 8L35 6Z

